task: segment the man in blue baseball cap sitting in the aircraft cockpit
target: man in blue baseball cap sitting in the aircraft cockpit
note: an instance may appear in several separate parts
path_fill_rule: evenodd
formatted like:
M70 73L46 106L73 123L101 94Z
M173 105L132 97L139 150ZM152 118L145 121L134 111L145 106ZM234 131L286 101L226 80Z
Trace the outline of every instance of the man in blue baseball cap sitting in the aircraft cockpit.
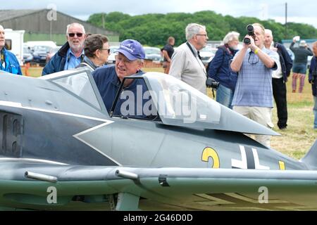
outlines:
M145 58L142 45L139 41L132 39L122 41L119 49L115 52L118 52L116 55L116 65L106 65L98 68L92 74L108 113L110 113L111 106L123 78L142 72L141 68ZM116 103L113 115L145 117L142 110L144 101L142 101L142 104L137 104L137 98L140 98L140 96L137 96L137 93L139 93L137 90L142 90L142 96L147 91L143 79L125 80L124 90ZM126 99L127 96L128 99Z

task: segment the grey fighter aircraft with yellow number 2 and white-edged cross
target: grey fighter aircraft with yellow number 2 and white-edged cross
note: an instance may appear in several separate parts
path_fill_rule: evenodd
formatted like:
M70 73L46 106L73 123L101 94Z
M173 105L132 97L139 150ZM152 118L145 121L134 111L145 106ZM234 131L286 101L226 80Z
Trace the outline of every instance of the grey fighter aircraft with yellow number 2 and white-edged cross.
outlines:
M174 77L128 79L151 116L108 113L86 70L1 72L1 210L317 209L316 143L294 160L246 135L275 131Z

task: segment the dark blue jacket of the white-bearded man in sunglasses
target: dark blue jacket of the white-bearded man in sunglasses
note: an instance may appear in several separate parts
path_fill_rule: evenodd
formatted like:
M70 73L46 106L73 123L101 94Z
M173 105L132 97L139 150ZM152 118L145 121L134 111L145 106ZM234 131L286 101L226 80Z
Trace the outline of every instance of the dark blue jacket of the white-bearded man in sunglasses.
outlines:
M68 41L61 49L49 60L42 71L42 76L49 75L53 72L60 72L64 70L66 64L67 51L70 48Z

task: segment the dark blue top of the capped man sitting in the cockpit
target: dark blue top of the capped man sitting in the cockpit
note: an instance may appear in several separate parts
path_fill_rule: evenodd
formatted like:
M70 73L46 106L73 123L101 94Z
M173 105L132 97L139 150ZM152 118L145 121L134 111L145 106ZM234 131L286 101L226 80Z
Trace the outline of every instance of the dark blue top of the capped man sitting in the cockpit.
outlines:
M110 114L113 101L116 98L116 94L121 84L120 79L118 78L116 73L116 66L106 65L104 67L97 68L97 70L92 73L92 76L94 77L94 81L97 84L101 98L104 101L104 105L106 106L106 109ZM142 118L146 117L143 112L143 105L149 100L143 99L143 94L145 91L147 91L147 86L144 83L144 80L135 79L135 81L132 82L130 86L127 86L123 89L121 97L128 96L128 99L118 98L116 108L115 110L113 110L113 115L129 115L130 117ZM129 94L133 94L133 96L130 96ZM139 103L139 101L137 101L138 99L142 99L142 104L137 104ZM125 112L120 110L121 105L123 105L123 110L125 110ZM130 106L132 108L130 108Z

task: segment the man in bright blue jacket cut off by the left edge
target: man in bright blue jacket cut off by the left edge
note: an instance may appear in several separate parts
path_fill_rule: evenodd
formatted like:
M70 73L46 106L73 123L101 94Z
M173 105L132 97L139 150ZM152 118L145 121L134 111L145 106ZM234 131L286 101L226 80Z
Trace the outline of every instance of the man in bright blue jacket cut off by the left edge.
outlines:
M20 63L18 59L15 57L13 53L6 50L6 38L4 27L0 25L0 53L1 53L1 60L0 60L0 70L4 70L6 72L11 72L15 75L22 75Z

